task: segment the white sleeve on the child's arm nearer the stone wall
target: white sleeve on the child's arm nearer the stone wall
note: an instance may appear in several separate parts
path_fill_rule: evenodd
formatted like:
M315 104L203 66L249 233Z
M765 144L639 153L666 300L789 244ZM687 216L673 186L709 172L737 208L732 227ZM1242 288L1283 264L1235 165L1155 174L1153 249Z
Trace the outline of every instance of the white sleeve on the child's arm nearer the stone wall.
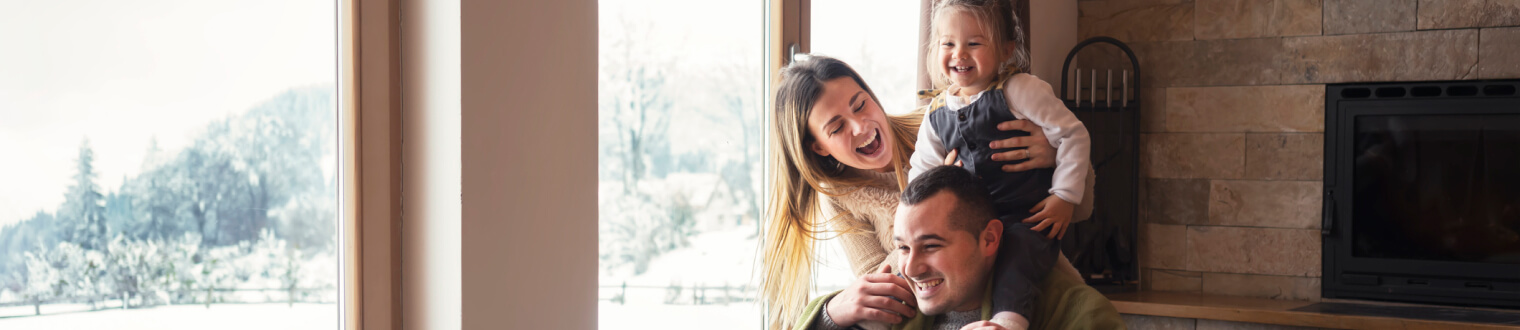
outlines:
M1032 75L1015 75L1003 84L1008 108L1015 117L1029 119L1044 129L1046 140L1055 148L1055 176L1050 179L1050 195L1072 205L1082 204L1087 193L1087 172L1091 167L1088 149L1091 140L1082 120L1055 97L1050 84Z

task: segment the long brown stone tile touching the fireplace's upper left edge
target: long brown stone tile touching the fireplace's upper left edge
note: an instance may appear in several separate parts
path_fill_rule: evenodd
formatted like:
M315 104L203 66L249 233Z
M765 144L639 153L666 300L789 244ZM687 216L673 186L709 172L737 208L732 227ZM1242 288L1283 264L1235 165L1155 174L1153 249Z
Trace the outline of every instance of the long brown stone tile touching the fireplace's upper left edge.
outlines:
M1166 90L1169 132L1322 132L1324 85Z

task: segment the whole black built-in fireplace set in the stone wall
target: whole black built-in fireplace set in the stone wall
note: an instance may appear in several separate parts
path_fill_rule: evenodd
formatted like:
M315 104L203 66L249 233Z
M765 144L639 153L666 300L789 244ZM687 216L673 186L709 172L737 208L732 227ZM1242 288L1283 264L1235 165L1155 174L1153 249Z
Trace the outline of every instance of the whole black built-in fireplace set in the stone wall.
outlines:
M1517 87L1325 87L1322 297L1520 307Z

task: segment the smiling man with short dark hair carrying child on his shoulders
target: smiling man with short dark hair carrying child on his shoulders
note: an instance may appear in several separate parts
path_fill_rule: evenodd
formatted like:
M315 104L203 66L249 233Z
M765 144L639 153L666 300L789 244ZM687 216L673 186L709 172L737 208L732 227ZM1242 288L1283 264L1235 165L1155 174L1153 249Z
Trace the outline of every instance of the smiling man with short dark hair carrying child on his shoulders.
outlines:
M903 189L897 208L892 240L901 272L892 275L883 266L813 300L796 325L860 328L869 319L888 319L897 321L892 328L1008 330L986 321L1002 233L974 175L953 166L930 169ZM1047 275L1040 287L1031 328L1125 327L1107 298L1070 277Z

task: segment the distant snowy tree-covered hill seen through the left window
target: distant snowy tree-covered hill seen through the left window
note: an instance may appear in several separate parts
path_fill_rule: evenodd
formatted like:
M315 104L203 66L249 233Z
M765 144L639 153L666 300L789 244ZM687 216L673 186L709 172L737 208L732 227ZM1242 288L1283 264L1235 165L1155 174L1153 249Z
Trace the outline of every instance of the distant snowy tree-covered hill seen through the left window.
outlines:
M67 199L82 205L0 227L0 289L18 286L23 252L65 240L166 240L199 233L202 246L228 246L272 230L302 249L331 248L337 210L333 90L292 88L213 120L173 155L147 146L143 172L109 195L94 189L91 160L81 157L76 173L82 175L70 182ZM81 154L93 152L88 148L81 146ZM97 221L103 221L102 233L90 233Z

